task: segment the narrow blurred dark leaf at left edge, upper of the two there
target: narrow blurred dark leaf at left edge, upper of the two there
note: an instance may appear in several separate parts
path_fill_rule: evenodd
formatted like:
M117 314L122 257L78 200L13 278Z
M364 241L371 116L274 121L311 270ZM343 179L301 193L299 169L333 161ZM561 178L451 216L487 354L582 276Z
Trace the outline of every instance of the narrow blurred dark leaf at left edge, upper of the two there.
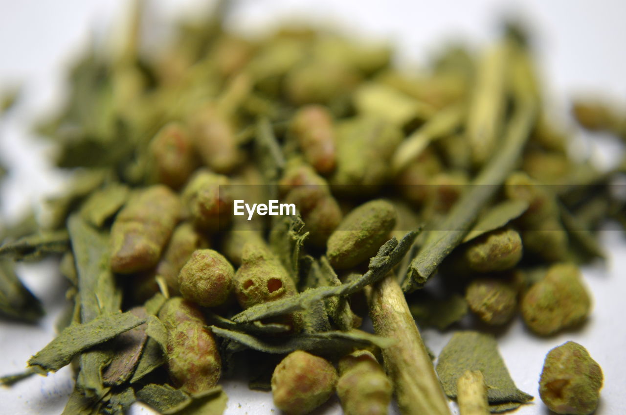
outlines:
M0 246L0 256L10 255L16 261L38 261L45 255L64 253L68 248L67 231L42 232L3 244Z

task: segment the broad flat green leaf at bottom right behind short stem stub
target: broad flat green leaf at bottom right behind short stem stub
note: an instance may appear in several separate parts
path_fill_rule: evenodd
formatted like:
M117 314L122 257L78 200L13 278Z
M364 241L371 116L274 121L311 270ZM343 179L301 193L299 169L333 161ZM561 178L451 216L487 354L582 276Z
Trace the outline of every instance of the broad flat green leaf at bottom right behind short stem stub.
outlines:
M456 381L467 370L483 372L491 412L502 411L500 405L513 409L533 399L515 386L498 352L498 343L491 335L457 332L441 350L437 373L448 397L456 398Z

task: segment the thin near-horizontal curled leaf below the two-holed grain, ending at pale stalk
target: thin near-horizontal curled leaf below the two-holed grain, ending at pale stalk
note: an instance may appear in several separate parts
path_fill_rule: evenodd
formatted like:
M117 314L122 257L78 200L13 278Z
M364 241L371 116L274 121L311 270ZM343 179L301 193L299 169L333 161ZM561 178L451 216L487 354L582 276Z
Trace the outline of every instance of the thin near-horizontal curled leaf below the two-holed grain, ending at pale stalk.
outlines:
M287 337L283 342L263 340L250 334L233 332L225 328L210 327L212 332L223 339L237 342L252 350L272 354L287 354L294 350L307 350L319 354L341 355L355 348L376 345L381 349L394 344L395 340L386 339L360 330L349 332L302 333Z

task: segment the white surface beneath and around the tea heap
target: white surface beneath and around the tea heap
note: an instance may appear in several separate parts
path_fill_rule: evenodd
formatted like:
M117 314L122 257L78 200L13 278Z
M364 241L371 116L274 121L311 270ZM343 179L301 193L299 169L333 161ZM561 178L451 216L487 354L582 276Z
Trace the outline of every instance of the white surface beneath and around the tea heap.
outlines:
M195 0L151 1L161 14L188 9ZM33 114L57 105L63 95L63 71L76 49L85 45L93 28L110 27L119 18L123 0L0 0L0 90L10 81L23 81L26 99L11 116L0 120L0 159L14 169L1 187L0 218L15 218L36 204L42 193L58 189L61 175L52 172L44 154L46 146L28 132ZM443 39L461 37L473 45L484 44L497 32L503 11L520 10L533 23L546 87L555 105L572 92L599 90L612 97L626 97L626 3L615 1L528 0L528 1L433 1L402 0L243 0L232 26L263 26L292 13L332 21L368 37L391 39L401 46L405 58L417 60L441 45ZM106 33L106 31L105 31ZM33 152L33 149L37 149ZM600 162L613 150L598 152ZM605 266L585 270L595 299L592 317L578 332L538 339L520 320L498 337L500 351L511 376L523 391L535 395L534 404L522 407L519 415L548 414L538 397L537 382L546 352L567 340L583 344L602 365L605 386L597 414L626 413L626 332L623 329L623 297L626 295L626 246L621 233L607 231L602 239L610 250ZM21 268L33 292L43 299L48 317L37 326L26 327L0 321L0 372L18 372L31 354L53 337L51 325L60 310L63 286L53 263ZM424 340L438 354L451 333L424 330ZM48 377L34 377L13 389L0 389L2 414L58 414L71 392L69 370ZM273 409L271 396L250 392L245 384L225 385L227 414L267 414ZM452 407L454 405L452 404ZM136 407L135 413L147 413ZM320 414L341 413L331 401Z

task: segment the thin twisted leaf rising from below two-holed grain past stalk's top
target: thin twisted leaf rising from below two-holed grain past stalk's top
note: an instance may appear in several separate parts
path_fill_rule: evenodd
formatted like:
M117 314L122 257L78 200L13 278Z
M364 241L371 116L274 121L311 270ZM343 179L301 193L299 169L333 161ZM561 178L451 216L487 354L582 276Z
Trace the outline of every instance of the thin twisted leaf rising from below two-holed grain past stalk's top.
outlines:
M376 256L369 261L369 270L354 281L337 286L320 286L309 288L305 292L290 297L281 298L268 303L254 305L235 315L232 320L235 322L251 322L263 318L275 317L287 313L306 310L313 303L337 295L347 296L362 290L365 286L381 280L391 268L396 266L411 248L417 233L411 231L407 233L401 241L392 238L384 243L378 250Z

